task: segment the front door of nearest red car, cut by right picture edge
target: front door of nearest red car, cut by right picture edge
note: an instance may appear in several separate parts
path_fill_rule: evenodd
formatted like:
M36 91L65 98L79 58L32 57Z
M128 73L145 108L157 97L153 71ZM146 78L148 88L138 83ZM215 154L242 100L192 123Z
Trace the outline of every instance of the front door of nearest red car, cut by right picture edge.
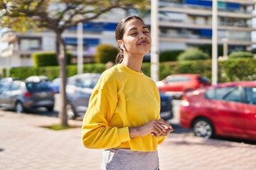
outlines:
M245 87L245 132L256 139L256 86Z

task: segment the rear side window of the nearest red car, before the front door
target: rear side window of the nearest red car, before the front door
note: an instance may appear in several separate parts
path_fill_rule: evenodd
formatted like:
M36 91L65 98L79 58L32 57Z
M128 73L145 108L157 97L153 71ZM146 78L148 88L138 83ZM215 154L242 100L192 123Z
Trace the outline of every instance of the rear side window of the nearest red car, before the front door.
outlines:
M240 91L237 86L218 87L216 89L208 89L205 97L214 100L238 101L241 102Z

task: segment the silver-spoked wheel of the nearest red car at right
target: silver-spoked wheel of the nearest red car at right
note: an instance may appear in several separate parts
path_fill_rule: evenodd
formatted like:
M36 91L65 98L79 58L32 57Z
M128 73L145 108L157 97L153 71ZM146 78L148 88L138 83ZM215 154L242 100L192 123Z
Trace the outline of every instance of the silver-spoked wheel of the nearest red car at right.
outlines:
M213 125L206 118L199 118L193 123L193 132L195 136L204 137L206 139L213 137Z

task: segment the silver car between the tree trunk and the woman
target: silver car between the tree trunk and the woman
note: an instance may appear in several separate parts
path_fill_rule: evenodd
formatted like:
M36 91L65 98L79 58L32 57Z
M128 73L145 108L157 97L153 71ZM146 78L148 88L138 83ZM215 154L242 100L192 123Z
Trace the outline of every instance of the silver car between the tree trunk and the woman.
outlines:
M92 89L101 74L85 73L68 78L66 85L67 114L69 119L82 117L87 111Z

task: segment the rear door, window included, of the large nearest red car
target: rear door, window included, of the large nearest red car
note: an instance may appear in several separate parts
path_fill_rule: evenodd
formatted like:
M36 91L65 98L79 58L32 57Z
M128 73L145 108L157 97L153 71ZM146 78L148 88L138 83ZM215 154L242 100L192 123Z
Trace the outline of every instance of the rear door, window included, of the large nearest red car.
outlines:
M244 135L245 104L242 103L242 87L229 86L216 89L215 122L222 135Z

